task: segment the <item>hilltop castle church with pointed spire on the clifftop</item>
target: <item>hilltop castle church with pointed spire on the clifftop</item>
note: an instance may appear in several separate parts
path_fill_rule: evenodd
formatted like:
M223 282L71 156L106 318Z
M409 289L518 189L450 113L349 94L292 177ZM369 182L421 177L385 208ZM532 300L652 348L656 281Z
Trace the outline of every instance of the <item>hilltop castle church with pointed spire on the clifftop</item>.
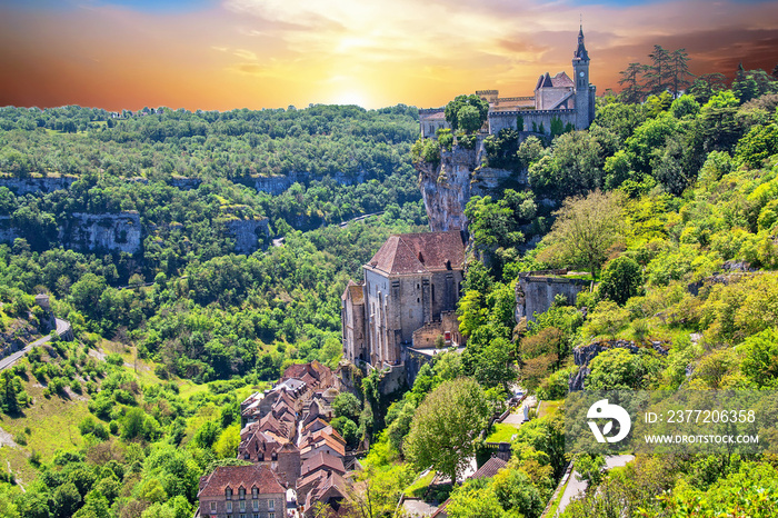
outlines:
M584 27L578 32L572 72L575 80L563 71L556 76L546 72L538 78L535 94L529 97L501 98L498 90L477 91L477 96L489 102L488 132L497 135L503 128L511 128L548 135L552 121L578 130L588 128L595 120L596 88L589 83L589 52L584 43ZM437 130L450 128L443 110L419 110L422 138L435 138Z

